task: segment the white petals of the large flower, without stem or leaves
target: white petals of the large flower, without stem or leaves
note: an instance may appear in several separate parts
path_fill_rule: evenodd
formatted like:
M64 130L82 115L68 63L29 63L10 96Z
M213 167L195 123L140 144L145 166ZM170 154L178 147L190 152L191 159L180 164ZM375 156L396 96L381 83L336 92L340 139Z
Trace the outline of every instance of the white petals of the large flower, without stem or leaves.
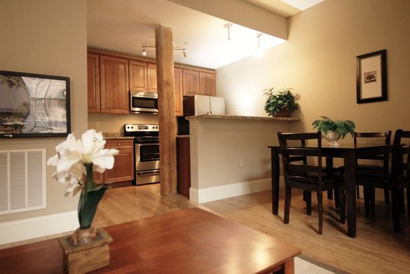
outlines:
M117 149L104 149L106 141L101 132L88 129L82 134L81 140L75 140L74 134L69 134L67 140L56 146L56 155L49 158L48 165L56 166L57 171L53 177L58 182L65 184L69 182L65 195L69 195L76 186L81 185L84 164L93 163L94 171L103 173L106 169L112 169L114 156L118 154Z

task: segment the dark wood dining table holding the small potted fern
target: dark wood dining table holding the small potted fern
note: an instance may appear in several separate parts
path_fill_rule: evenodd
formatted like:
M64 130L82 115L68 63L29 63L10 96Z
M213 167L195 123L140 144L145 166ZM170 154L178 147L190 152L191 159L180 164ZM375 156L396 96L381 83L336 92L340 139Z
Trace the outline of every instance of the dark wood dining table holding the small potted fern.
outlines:
M309 147L309 146L308 146ZM272 158L272 213L278 214L279 208L279 174L280 147L269 146ZM356 225L356 164L357 158L390 153L391 145L385 144L340 144L339 147L322 146L322 156L326 157L326 167L333 166L333 158L343 158L344 184L346 189L346 215L348 236L355 238Z

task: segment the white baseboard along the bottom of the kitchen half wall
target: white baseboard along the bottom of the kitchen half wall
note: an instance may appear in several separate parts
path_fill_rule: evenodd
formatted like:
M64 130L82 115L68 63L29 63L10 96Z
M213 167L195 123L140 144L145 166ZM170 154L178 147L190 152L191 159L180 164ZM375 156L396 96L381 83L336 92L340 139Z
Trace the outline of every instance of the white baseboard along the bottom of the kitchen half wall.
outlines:
M194 203L206 203L230 197L237 197L253 192L271 189L271 179L258 179L237 184L213 186L211 188L189 188L189 200Z

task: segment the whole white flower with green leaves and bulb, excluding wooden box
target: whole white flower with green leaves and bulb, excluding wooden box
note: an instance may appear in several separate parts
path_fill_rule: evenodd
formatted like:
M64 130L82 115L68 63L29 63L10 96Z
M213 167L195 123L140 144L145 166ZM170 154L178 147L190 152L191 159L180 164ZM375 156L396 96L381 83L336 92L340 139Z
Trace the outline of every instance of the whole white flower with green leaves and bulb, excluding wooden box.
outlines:
M52 177L67 184L65 197L71 192L73 196L77 192L81 193L77 208L80 227L69 239L72 245L93 242L99 236L91 223L108 185L96 186L93 171L103 173L106 169L112 169L114 155L119 153L117 149L104 149L105 144L106 140L101 132L97 133L95 129L84 132L81 140L76 140L74 134L69 134L67 140L56 146L56 155L47 161L47 165L56 166Z

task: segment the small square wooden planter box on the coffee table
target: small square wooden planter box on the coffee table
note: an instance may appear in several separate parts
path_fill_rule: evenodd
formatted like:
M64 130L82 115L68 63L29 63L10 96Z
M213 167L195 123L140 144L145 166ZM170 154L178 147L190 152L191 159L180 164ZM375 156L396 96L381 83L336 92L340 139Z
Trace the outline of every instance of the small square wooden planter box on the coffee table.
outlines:
M87 273L110 265L110 242L112 238L108 233L98 228L100 237L94 242L85 245L71 245L69 238L58 238L64 251L64 270L66 273Z

